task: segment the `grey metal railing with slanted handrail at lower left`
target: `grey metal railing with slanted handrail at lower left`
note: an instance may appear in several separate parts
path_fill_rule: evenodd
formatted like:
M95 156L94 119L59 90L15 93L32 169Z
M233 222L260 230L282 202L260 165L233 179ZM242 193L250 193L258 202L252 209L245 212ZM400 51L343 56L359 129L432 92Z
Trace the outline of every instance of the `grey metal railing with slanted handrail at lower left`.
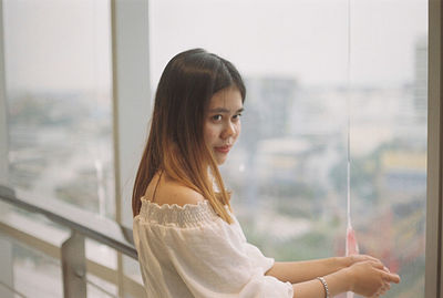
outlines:
M125 254L136 259L137 255L133 246L131 229L122 227L109 218L96 217L95 214L68 203L54 198L33 196L21 191L14 192L2 185L0 185L0 201L33 214L44 215L53 223L68 228L68 230L61 233L59 230L56 233L59 235L55 238L49 239L35 233L35 229L41 230L43 226L51 229L55 228L48 227L45 226L47 224L39 222L34 222L32 228L30 228L30 219L27 215L11 210L7 216L0 218L0 232L2 235L32 247L49 257L60 259L64 288L63 297L86 297L86 273L114 284L119 288L119 297L125 297L124 294L130 294L134 297L144 295L145 289L140 280L134 280L126 275L120 276L122 273L119 267L114 269L112 266L100 264L85 256L85 238L90 238L115 249L117 254ZM13 216L9 217L8 215L11 215L11 213L13 213ZM8 239L1 239L1 242L9 243ZM4 250L11 253L11 247L6 247ZM6 260L11 259L6 258ZM1 260L3 261L4 259L1 258ZM12 264L2 268L12 268ZM8 270L2 270L2 275L8 273ZM7 281L4 276L2 276L1 280ZM12 282L7 281L6 284ZM1 297L12 296L6 296L2 292Z

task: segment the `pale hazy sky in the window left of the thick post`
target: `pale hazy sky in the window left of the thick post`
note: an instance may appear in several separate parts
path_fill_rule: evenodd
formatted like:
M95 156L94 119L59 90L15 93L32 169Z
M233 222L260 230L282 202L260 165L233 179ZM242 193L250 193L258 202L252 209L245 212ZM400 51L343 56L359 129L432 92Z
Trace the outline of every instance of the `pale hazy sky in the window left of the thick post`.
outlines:
M9 90L109 89L110 6L103 0L3 0Z

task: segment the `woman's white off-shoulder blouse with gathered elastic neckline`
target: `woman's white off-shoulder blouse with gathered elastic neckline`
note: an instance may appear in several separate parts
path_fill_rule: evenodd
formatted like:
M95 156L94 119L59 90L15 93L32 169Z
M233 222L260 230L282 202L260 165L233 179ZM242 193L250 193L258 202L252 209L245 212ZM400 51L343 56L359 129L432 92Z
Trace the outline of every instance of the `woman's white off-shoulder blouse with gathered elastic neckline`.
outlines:
M292 297L290 282L265 275L275 260L230 216L229 225L208 201L182 207L142 198L133 233L147 297Z

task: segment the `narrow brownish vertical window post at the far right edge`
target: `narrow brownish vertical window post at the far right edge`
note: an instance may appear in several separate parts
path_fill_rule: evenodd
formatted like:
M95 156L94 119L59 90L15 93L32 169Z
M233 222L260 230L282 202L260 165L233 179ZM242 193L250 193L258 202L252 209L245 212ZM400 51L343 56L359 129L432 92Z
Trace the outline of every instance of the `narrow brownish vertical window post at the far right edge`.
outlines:
M425 297L443 297L443 2L429 1L427 210Z

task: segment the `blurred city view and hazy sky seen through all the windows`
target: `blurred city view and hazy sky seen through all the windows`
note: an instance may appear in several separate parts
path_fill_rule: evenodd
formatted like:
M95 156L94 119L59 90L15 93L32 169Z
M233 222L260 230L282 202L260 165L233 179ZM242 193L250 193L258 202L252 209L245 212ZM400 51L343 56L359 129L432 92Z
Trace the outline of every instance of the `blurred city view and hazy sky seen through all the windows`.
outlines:
M131 227L131 197L115 203L111 8L2 1L7 181L101 217L122 213ZM147 105L167 61L190 48L230 60L246 81L240 141L222 173L248 240L277 260L344 255L350 154L360 251L402 277L385 297L424 297L427 1L151 0L145 13ZM133 120L141 143L151 109L143 115ZM132 184L121 187L128 194ZM63 233L27 216L42 234ZM1 237L14 247L9 286L62 295L58 259ZM116 266L104 245L87 240L86 255ZM124 264L141 282L136 261ZM90 280L89 297L116 297L115 285Z

